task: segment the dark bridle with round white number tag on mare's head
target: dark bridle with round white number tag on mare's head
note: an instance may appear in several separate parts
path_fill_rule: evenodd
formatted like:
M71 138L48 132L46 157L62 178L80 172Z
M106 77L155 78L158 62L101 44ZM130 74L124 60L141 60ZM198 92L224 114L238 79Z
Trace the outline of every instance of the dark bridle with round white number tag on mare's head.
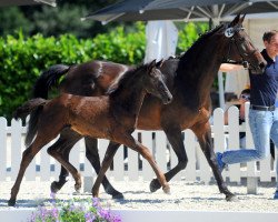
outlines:
M226 28L225 37L229 38L230 41L229 41L229 47L228 47L228 54L226 58L224 58L222 63L241 64L245 69L249 69L250 63L242 56L242 53L237 44L237 41L235 39L235 33L239 32L240 30L245 30L245 28L239 27L239 26L236 26L234 28ZM241 57L241 61L235 61L235 60L229 59L232 44L236 44L237 51L238 51L239 56ZM254 52L251 52L250 54L254 54L256 51L257 50L254 50Z

